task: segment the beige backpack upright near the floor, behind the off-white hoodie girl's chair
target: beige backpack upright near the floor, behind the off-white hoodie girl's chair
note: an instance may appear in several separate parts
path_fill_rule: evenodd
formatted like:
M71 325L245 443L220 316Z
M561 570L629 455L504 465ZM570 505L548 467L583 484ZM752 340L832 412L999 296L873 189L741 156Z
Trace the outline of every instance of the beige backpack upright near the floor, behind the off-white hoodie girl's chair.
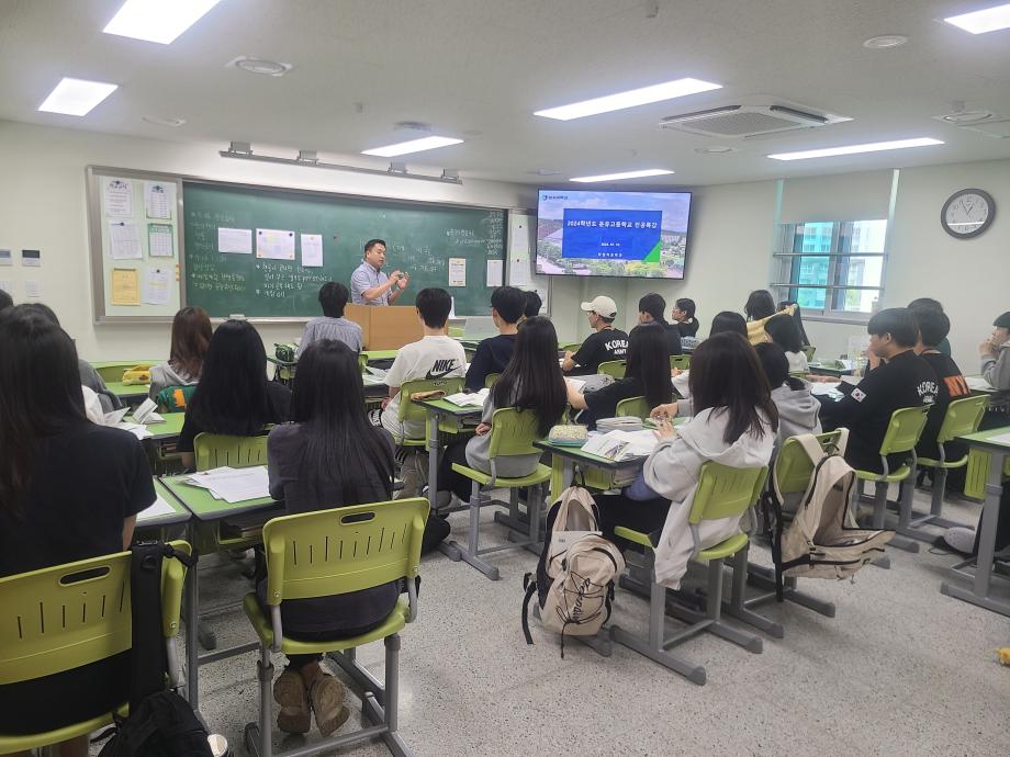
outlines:
M587 489L570 486L547 515L547 533L537 563L537 576L523 578L523 633L529 632L529 603L534 595L546 631L564 636L593 636L610 618L614 581L624 573L625 558L617 546L599 535L596 502Z

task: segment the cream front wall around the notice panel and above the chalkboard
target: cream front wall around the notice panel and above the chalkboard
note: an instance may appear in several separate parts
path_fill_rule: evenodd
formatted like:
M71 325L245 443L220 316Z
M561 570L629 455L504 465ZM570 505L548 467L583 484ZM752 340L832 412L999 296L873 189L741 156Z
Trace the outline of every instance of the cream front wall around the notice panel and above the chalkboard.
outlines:
M0 249L14 256L12 268L0 268L0 280L13 282L15 302L27 301L26 279L41 282L41 302L56 310L88 360L167 357L168 325L93 324L85 188L89 165L406 200L536 206L536 188L519 184L472 180L439 184L228 160L217 155L222 147L0 121ZM42 250L42 268L21 267L25 248ZM271 353L273 342L301 334L301 326L258 328Z

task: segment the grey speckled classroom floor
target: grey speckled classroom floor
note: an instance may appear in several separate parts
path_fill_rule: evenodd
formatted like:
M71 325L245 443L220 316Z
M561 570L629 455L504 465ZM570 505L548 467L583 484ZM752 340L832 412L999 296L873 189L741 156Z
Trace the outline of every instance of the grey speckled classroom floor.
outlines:
M950 509L965 520L976 513ZM489 543L503 528L490 520L485 511ZM465 517L452 526L464 539ZM763 654L706 635L681 646L706 666L704 687L619 646L602 658L570 642L561 659L557 639L536 624L527 646L519 612L523 574L535 566L528 552L493 555L497 583L433 555L422 566L419 619L403 633L401 733L418 756L1010 754L1010 668L995 657L1010 645L1010 620L940 594L954 557L890 554L891 570L801 587L834 601L834 619L766 606L786 637L765 637ZM767 554L755 547L752 558ZM233 565L203 574L202 586L207 602L248 590ZM615 619L642 629L644 601L618 590ZM222 644L251 637L240 611L213 624ZM381 675L381 644L359 658ZM203 713L236 755L257 712L255 660L247 654L200 673ZM355 712L345 728L358 722ZM276 738L278 747L300 743ZM381 743L345 753L389 754Z

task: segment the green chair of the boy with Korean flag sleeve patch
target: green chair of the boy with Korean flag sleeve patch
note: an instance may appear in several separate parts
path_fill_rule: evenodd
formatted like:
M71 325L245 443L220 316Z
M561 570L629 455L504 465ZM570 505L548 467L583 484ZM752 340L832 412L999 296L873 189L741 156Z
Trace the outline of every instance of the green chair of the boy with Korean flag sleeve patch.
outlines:
M912 489L914 488L916 482L916 444L919 443L919 437L922 436L922 429L925 428L925 420L929 416L929 411L930 406L922 405L920 407L902 407L891 413L890 423L887 426L887 432L884 434L884 441L880 443L880 465L884 468L883 473L854 468L855 477L861 482L861 494L862 482L873 482L875 485L872 528L878 531L886 528L887 487L890 484L909 482L909 484L901 487L901 501L899 502L899 508L907 508L909 512L911 511ZM910 462L899 466L897 471L891 471L890 466L887 464L887 455L902 452L908 453ZM908 552L919 551L919 542L899 535L891 539L890 544L897 546L899 550L907 550ZM875 560L873 564L877 567L888 568L890 567L890 557L885 555L879 560Z

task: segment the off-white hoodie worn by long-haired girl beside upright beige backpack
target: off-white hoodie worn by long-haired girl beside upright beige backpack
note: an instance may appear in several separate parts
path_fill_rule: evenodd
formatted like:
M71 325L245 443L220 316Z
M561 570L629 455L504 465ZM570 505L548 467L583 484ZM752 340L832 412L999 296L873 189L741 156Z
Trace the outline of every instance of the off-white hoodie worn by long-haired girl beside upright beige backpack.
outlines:
M733 467L762 467L772 457L775 434L771 428L766 428L762 437L749 432L727 444L722 440L726 425L726 408L702 410L678 427L676 436L661 441L646 461L646 483L671 500L670 513L655 547L655 578L669 588L680 587L694 552L687 517L702 465L711 460ZM739 517L703 520L698 524L702 549L715 546L740 530Z

